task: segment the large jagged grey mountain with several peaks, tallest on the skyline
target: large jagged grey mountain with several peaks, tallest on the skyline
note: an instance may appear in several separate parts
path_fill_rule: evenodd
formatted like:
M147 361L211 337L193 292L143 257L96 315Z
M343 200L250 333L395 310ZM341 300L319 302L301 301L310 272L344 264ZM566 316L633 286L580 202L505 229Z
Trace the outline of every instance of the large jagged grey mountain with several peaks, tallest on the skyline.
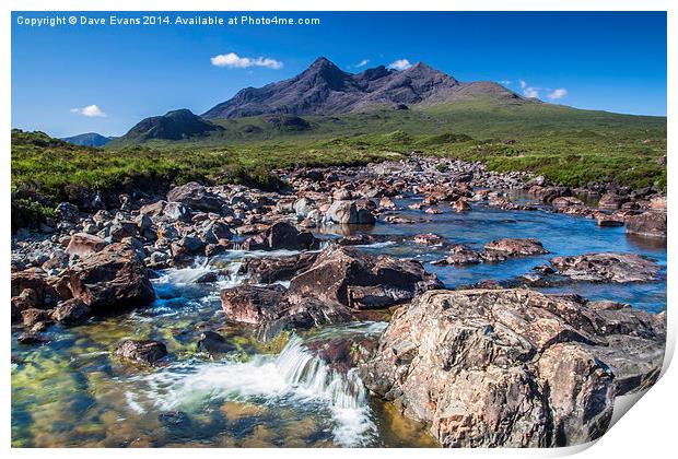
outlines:
M384 106L433 105L481 97L527 102L500 84L461 83L423 62L402 71L379 66L361 73L348 73L322 57L292 79L239 91L202 117L337 115Z

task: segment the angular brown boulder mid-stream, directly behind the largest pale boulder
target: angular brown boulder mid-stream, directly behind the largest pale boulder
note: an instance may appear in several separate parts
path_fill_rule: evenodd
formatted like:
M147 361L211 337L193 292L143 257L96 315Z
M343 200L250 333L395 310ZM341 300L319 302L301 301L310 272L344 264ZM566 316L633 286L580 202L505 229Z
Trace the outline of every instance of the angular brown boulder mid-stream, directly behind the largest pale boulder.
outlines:
M441 286L437 278L417 261L329 247L292 279L290 294L370 309L388 307Z

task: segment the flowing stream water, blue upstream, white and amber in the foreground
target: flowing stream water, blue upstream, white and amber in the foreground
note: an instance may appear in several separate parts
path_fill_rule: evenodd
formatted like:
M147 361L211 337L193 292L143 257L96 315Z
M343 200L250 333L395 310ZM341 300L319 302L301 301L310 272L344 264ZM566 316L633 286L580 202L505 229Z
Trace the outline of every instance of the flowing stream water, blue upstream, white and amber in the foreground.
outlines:
M659 243L629 237L623 227L599 228L591 220L548 209L511 212L476 204L472 212L463 214L441 209L444 212L439 215L401 212L429 220L413 225L377 223L373 228L349 232L387 237L361 249L418 259L448 287L513 279L558 255L641 254L662 267L658 281L624 285L580 282L542 290L621 301L651 313L666 308L666 248ZM331 239L337 232L318 236ZM436 233L449 243L476 248L500 237L536 237L550 254L502 263L436 267L430 262L443 258L445 249L411 242L421 233ZM281 334L266 343L247 327L225 322L219 292L245 281L237 274L242 261L291 254L232 250L219 258L197 260L192 268L160 272L153 280L157 299L150 307L79 327L52 327L48 331L51 342L42 346L17 344L21 330L13 330L13 445L435 446L425 425L402 417L391 404L370 396L354 370L335 370L306 345L327 337L378 338L385 322ZM215 270L220 272L218 282L195 282ZM198 353L196 342L204 330L225 336L237 351L214 360ZM112 353L125 339L160 340L171 356L152 368L125 364Z

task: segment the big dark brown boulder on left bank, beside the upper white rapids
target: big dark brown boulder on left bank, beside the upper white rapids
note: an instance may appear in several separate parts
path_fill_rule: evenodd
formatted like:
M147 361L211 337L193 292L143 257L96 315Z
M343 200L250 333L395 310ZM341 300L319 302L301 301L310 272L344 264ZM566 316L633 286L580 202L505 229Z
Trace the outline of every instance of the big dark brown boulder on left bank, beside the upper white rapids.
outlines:
M82 258L68 273L73 297L94 314L143 306L155 299L149 274L135 249L110 244Z

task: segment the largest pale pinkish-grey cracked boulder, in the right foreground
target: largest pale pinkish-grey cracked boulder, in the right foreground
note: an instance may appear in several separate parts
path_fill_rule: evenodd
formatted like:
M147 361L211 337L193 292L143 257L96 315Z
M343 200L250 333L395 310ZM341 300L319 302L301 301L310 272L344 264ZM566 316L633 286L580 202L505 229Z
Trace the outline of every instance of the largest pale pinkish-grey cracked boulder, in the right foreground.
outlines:
M529 290L431 291L360 373L445 447L575 445L605 433L617 395L656 380L664 320Z

